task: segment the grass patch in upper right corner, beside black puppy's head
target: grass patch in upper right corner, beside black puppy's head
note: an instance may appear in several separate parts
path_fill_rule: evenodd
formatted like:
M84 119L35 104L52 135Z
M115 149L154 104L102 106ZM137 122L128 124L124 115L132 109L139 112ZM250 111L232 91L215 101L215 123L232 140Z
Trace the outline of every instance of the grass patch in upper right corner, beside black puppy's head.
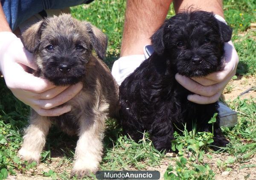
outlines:
M249 31L241 36L241 34L244 34L250 28L250 23L256 22L255 0L224 0L224 16L228 24L233 28L232 40L239 55L237 74L255 74L256 31Z

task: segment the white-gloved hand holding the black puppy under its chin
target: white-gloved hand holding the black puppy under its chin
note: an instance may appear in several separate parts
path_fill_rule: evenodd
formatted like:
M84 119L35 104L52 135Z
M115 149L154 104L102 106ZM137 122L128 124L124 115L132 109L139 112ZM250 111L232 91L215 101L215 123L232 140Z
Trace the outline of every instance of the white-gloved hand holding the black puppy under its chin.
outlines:
M197 104L210 104L218 101L230 79L236 74L239 57L232 41L224 44L225 67L224 70L211 73L200 78L188 78L175 75L175 79L187 90L195 93L187 99Z

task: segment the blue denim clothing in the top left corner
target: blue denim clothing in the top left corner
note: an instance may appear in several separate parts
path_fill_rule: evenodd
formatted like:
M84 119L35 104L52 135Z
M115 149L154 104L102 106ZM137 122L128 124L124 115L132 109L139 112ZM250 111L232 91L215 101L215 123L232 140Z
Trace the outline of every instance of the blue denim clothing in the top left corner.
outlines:
M46 9L62 9L76 6L83 3L90 3L93 0L1 0L6 20L12 30L15 30L21 23Z

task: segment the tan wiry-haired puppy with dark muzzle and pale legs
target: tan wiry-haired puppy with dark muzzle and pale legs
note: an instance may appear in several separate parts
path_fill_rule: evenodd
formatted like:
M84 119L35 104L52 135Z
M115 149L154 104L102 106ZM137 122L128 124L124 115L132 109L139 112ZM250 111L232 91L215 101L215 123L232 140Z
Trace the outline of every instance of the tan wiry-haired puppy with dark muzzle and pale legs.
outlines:
M118 109L118 86L100 60L105 57L107 37L90 23L62 14L32 25L22 34L22 41L34 54L36 76L58 86L82 82L83 89L67 102L72 106L69 113L47 117L31 110L19 154L23 160L39 163L49 128L56 124L64 132L79 136L71 175L95 173L102 160L105 120ZM92 55L93 49L100 59Z

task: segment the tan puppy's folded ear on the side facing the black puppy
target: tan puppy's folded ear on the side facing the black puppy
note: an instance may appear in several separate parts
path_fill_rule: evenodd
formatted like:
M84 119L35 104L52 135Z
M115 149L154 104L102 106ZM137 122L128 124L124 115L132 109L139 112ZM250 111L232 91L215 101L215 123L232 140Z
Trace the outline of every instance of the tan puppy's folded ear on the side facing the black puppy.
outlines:
M106 51L108 47L108 37L98 28L90 25L91 28L91 42L96 54L100 59L104 59L106 56Z

